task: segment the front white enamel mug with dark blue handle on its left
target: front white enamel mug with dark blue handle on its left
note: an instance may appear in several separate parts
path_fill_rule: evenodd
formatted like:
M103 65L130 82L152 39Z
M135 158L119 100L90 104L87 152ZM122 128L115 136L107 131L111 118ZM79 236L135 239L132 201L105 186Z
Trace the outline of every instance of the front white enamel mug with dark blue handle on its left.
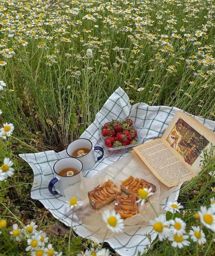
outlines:
M65 168L75 168L79 172L78 174L72 175L72 176L62 176L59 174L59 172ZM81 171L83 169L83 164L81 161L75 158L62 158L58 160L54 164L54 172L55 172L55 178L52 179L49 183L49 191L53 195L65 195L64 190L67 189L70 186L74 186L77 183L81 182Z

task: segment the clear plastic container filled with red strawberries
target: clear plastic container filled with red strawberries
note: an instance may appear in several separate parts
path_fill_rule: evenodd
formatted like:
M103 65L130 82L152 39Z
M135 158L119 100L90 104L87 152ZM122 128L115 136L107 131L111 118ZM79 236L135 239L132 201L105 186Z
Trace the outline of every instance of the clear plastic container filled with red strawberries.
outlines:
M130 118L103 123L100 126L100 135L109 154L128 152L140 140L135 124Z

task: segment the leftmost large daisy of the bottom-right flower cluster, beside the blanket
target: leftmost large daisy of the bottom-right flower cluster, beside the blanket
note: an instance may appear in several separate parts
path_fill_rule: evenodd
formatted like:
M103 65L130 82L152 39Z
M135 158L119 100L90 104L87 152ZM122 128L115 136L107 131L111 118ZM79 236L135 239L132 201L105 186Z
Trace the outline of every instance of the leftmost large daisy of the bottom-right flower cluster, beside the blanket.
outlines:
M165 215L159 215L155 220L150 220L150 225L157 232L159 240L162 241L167 238L170 234L169 225L170 222L166 220Z

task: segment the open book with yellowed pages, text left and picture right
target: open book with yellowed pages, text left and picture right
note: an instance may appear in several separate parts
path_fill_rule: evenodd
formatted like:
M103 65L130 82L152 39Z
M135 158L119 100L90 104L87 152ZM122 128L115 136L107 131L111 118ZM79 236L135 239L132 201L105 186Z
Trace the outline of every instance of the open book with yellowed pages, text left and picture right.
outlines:
M181 111L165 130L162 138L134 147L151 172L166 186L191 179L201 169L203 150L215 145L215 133Z

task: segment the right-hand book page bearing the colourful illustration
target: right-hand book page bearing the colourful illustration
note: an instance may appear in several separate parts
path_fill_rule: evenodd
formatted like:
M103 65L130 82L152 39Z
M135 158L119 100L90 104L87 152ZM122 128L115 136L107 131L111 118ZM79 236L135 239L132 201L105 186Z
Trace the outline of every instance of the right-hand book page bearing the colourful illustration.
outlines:
M201 169L204 149L215 145L215 134L192 116L178 111L162 136L165 144L173 149L184 164L195 173Z

